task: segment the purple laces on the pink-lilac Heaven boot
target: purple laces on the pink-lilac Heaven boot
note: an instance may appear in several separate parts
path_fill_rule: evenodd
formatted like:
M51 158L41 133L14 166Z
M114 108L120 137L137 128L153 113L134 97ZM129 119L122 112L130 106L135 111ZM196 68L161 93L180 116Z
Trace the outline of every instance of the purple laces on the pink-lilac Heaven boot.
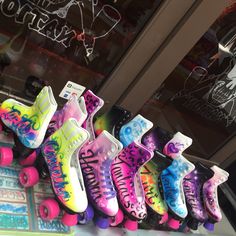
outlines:
M102 162L101 165L101 176L102 176L102 180L101 182L103 183L103 185L101 186L102 188L105 189L105 191L103 192L106 195L106 199L112 199L114 197L116 197L116 191L114 189L114 185L112 183L112 178L111 178L111 162L112 160L105 160Z

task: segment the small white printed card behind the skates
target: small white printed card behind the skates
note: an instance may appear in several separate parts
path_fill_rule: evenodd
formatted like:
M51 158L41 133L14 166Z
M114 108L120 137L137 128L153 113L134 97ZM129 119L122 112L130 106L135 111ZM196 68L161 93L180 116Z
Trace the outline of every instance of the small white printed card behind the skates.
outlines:
M68 81L65 87L62 89L61 93L59 94L59 97L68 100L72 94L75 94L79 98L84 92L84 90L84 86Z

